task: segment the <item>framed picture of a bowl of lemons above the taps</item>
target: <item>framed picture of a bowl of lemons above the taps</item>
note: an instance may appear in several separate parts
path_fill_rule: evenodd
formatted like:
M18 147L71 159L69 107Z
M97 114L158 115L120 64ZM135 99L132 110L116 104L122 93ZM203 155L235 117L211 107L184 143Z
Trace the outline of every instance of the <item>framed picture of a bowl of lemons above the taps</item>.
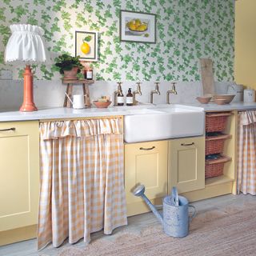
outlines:
M120 11L120 41L156 42L156 14Z

